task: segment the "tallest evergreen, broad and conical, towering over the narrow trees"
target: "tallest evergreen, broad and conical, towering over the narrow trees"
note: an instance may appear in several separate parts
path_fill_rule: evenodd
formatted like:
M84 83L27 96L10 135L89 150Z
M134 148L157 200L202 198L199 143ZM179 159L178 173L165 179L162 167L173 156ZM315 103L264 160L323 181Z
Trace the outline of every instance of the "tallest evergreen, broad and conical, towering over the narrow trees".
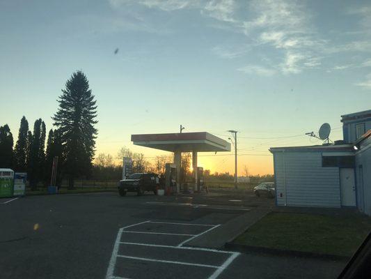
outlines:
M72 189L75 178L90 172L97 135L94 128L97 123L96 101L84 73L77 71L72 74L58 103L58 111L52 119L61 133L63 172L68 176L68 188Z

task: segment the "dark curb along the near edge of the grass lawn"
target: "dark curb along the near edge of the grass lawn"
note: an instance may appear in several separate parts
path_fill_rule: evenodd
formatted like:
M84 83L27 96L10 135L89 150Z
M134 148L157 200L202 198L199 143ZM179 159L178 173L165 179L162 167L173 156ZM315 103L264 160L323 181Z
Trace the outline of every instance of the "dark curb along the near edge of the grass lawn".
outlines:
M347 261L351 256L340 256L331 254L320 254L315 252L301 252L296 250L280 250L274 248L260 247L260 246L248 246L239 243L227 242L224 246L226 250L235 250L237 252L249 253L249 252L260 252L269 255L276 256L289 256L289 257L312 257L317 259L330 259L330 260L340 260Z

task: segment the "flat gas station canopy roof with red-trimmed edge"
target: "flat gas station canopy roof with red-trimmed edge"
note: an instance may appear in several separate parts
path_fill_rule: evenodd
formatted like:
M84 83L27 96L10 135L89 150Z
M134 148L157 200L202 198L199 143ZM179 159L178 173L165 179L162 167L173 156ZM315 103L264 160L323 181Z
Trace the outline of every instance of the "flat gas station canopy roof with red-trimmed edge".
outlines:
M230 151L230 143L206 132L132 135L135 145L180 152Z

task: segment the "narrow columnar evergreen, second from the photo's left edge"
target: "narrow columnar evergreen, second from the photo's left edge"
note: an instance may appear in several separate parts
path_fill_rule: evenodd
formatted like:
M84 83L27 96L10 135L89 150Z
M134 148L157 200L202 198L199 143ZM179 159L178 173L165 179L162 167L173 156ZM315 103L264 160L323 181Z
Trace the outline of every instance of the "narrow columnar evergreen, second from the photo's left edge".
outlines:
M19 127L18 140L15 144L15 170L26 172L27 169L27 134L29 133L29 122L26 117L22 117Z

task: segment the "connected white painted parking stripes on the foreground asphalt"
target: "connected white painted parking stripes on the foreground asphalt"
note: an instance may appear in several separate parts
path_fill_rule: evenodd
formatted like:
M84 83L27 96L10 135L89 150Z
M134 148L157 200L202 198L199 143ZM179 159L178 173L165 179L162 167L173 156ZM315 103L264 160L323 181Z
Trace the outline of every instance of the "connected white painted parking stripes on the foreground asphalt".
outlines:
M125 229L129 227L135 227L142 224L164 224L164 225L180 225L180 226L205 226L210 227L209 229L206 229L203 232L200 232L200 234L172 234L172 233L164 233L164 232L141 232L141 231L126 231ZM106 273L106 279L127 279L120 276L114 276L113 273L115 271L116 262L118 258L123 259L136 259L139 261L146 261L146 262L161 262L164 264L180 264L185 266L199 266L204 268L210 268L210 269L216 269L214 273L212 273L211 276L209 276L207 279L216 279L225 269L228 268L228 266L233 262L233 260L238 257L239 252L231 252L231 251L224 251L224 250L215 250L215 249L209 249L209 248L196 248L196 247L184 247L183 245L192 239L195 239L196 237L206 234L207 232L210 232L212 229L215 229L216 227L219 227L220 225L210 225L210 224L190 224L190 223L170 223L170 222L158 222L158 221L143 221L141 223L136 223L133 225L128 225L126 227L122 227L118 230L118 234L116 236L116 241L113 246L113 252L111 255L111 259L109 261L109 267L107 269ZM121 241L121 237L125 233L138 233L138 234L166 234L166 235L173 235L173 236L191 236L189 239L186 239L185 241L182 241L177 246L167 246L167 245L158 245L158 244L152 244L152 243L138 243L138 242L127 242L127 241ZM170 249L178 249L178 250L198 250L198 251L205 251L205 252L215 252L215 253L221 253L221 254L229 254L230 257L228 257L223 264L219 265L212 265L212 264L197 264L192 262L179 262L179 261L171 261L166 259L154 259L154 258L148 258L148 257L134 257L130 255L119 255L118 250L120 249L120 245L132 245L132 246L148 246L148 247L158 247L158 248L170 248Z

